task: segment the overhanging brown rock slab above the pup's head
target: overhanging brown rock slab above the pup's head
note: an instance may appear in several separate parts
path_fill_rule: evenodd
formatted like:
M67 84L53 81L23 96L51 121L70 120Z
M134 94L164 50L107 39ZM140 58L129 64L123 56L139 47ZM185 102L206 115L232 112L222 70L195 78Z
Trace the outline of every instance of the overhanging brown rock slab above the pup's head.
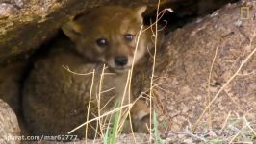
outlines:
M24 54L55 36L70 17L88 8L107 4L139 6L156 3L149 0L0 1L0 63L15 60L17 56L23 58Z

